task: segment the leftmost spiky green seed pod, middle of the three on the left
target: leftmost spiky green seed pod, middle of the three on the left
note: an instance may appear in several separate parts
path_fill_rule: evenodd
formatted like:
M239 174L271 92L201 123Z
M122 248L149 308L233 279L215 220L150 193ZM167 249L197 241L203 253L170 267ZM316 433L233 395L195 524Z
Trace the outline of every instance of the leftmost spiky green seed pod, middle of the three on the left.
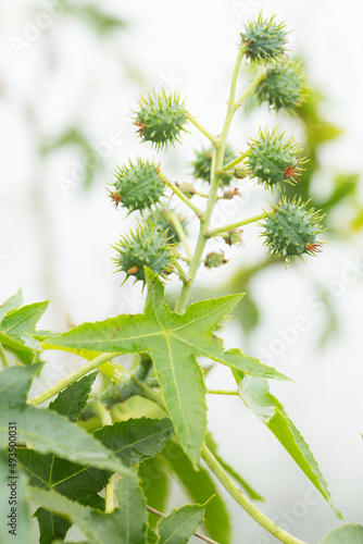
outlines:
M163 196L165 185L159 176L159 166L151 161L136 159L128 166L116 168L114 190L110 196L116 206L121 202L129 212L146 210Z

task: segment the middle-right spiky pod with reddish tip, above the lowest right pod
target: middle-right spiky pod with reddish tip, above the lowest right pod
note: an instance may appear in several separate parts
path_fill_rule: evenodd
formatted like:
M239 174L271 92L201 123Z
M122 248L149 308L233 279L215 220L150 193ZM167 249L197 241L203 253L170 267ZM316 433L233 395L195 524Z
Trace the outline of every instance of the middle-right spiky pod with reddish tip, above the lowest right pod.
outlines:
M272 191L275 187L281 189L284 182L291 185L298 183L303 170L299 166L303 159L297 160L299 147L293 138L284 139L284 134L278 133L277 127L272 132L260 129L259 137L250 144L245 162L251 177Z

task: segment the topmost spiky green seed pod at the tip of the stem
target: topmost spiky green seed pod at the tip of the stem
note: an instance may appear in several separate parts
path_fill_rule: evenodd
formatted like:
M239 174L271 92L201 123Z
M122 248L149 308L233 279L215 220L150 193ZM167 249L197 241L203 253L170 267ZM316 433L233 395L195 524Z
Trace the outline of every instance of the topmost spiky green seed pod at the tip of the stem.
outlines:
M263 18L261 13L256 21L249 21L241 34L247 47L246 57L251 61L279 59L285 52L286 32L284 28L284 24L275 23L275 17Z

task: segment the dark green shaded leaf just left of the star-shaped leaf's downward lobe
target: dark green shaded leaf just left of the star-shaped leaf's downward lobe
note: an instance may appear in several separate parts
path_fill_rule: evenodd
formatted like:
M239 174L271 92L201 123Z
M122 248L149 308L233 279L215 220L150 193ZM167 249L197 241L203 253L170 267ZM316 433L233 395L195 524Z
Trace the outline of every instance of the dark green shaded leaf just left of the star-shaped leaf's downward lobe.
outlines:
M170 419L128 419L104 425L95 437L120 457L126 467L154 457L174 434Z

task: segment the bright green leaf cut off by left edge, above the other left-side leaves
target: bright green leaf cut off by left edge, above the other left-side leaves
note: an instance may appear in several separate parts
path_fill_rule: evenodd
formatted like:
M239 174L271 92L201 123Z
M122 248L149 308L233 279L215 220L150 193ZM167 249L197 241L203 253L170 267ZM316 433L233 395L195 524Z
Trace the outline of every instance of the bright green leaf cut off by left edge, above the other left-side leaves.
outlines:
M4 306L17 305L21 293L11 297ZM47 310L49 300L23 306L8 311L0 324L0 342L3 347L13 353L24 364L30 364L35 353L40 351L40 344L34 338L35 325ZM0 308L1 314L1 308Z

